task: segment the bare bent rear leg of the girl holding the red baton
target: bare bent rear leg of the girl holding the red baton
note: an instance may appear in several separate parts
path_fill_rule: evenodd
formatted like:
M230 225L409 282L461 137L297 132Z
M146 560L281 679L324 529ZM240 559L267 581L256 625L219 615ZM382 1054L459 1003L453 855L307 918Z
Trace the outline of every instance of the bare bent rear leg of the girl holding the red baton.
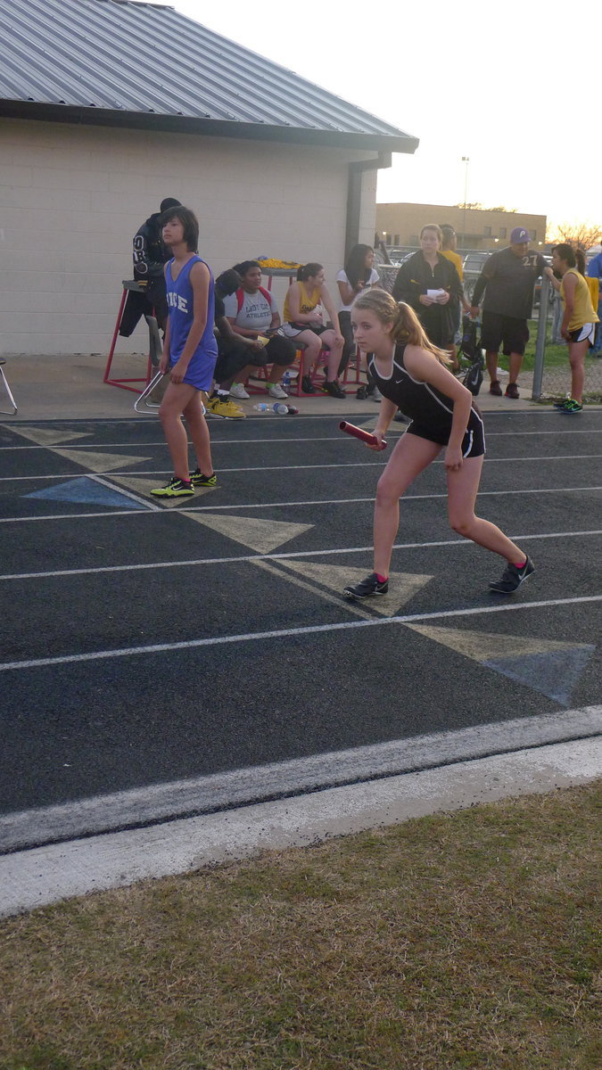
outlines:
M499 528L475 514L475 502L483 468L482 457L468 457L456 472L448 472L448 514L450 526L464 538L471 539L492 553L499 553L513 565L527 554L512 542Z

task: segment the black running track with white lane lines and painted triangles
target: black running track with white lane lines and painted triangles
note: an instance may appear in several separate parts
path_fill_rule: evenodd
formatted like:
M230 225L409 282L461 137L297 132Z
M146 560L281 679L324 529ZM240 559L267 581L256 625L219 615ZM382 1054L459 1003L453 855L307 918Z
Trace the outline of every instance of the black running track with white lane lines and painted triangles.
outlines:
M170 507L154 418L0 427L1 814L600 701L602 411L487 417L479 511L537 566L513 599L437 463L374 607L341 590L387 455L340 418L213 421L220 487Z

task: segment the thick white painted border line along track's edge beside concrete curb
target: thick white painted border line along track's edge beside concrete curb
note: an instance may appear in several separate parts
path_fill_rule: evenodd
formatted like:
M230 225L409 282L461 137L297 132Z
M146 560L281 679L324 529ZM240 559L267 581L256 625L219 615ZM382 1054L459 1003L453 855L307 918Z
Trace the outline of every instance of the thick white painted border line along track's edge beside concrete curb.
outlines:
M602 706L583 706L149 784L6 814L0 817L0 850L14 851L32 843L434 769L524 748L590 738L601 731Z

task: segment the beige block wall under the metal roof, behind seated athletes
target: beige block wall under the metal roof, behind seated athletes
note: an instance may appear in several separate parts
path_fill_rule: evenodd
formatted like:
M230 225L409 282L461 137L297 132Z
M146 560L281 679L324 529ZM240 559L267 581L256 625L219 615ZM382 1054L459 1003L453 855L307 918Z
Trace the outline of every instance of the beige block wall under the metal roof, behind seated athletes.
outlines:
M347 165L358 152L0 120L0 351L106 354L132 238L164 197L200 221L215 274L238 260L319 260L336 294ZM372 243L376 171L360 241ZM274 279L279 301L287 282ZM142 352L146 326L117 352Z

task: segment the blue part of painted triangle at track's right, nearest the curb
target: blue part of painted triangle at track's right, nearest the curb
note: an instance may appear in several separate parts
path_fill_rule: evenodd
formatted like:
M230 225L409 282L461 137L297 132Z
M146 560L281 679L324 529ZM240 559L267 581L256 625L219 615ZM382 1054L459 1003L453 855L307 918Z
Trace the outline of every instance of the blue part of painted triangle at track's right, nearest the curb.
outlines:
M574 646L515 658L493 658L481 663L568 706L571 691L595 649L595 646Z

